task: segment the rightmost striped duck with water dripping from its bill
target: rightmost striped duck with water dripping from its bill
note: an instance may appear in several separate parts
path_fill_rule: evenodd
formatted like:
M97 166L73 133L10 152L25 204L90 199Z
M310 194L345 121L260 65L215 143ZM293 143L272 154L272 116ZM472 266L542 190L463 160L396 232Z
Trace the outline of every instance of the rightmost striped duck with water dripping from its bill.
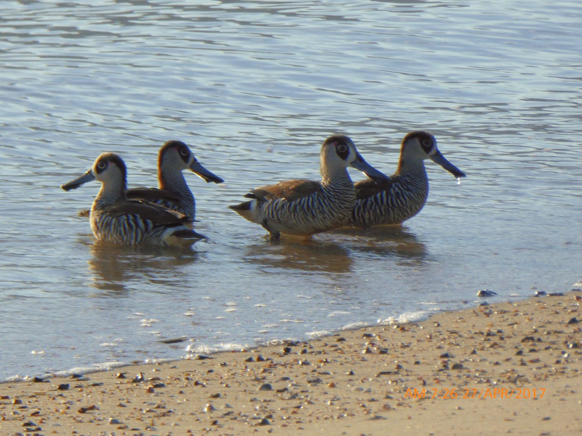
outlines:
M420 212L428 196L426 159L438 163L457 179L466 177L438 150L434 135L423 130L411 131L402 140L398 167L392 176L387 180L368 178L354 185L356 205L349 224L364 228L402 224Z

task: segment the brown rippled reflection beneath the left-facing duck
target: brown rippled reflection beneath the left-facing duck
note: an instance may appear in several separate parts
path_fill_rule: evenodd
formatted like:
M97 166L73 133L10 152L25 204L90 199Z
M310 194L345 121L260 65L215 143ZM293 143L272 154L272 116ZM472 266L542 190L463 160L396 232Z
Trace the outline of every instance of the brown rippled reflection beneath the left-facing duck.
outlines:
M130 281L175 283L187 274L185 265L196 262L198 254L188 248L116 245L95 241L91 246L88 270L93 274L90 285L103 291L127 291ZM163 287L160 287L163 290Z

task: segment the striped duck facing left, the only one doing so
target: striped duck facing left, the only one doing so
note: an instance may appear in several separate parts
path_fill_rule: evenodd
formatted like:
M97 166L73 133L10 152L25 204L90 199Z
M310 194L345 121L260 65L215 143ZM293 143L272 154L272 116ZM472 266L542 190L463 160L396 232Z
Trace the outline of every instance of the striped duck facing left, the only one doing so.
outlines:
M188 247L205 237L188 227L190 218L143 200L127 198L127 168L115 153L101 153L83 176L65 183L65 191L88 181L101 182L91 206L91 230L98 241Z

